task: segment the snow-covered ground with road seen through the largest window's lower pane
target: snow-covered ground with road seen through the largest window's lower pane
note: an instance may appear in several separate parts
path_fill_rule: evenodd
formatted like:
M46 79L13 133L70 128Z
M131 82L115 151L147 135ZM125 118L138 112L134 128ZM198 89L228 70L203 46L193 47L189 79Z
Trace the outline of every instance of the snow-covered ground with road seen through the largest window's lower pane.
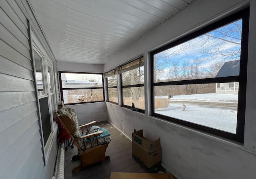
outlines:
M237 103L238 95L234 94L174 95L169 107L155 109L155 113L236 133Z

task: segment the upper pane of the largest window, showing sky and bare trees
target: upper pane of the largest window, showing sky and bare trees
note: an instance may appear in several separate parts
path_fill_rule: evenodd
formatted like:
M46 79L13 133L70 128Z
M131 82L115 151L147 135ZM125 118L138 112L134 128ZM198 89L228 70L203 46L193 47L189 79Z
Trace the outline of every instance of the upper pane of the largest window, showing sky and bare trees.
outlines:
M238 76L242 20L154 55L154 82Z

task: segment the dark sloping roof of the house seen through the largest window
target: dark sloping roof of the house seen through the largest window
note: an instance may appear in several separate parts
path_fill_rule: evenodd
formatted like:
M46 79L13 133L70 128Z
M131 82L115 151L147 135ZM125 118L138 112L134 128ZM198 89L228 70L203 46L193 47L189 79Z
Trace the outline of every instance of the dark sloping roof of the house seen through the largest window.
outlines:
M215 76L215 78L226 77L226 76L238 76L239 69L240 69L240 60L225 62L222 68L220 68L220 71Z

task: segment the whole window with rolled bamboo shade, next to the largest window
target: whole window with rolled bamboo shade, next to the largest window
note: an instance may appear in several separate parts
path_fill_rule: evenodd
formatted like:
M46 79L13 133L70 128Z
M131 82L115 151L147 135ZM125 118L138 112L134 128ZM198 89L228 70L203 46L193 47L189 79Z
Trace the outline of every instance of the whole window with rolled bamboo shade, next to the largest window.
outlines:
M144 102L144 58L143 56L136 60L120 66L118 73L122 74L122 105L135 107L145 110Z

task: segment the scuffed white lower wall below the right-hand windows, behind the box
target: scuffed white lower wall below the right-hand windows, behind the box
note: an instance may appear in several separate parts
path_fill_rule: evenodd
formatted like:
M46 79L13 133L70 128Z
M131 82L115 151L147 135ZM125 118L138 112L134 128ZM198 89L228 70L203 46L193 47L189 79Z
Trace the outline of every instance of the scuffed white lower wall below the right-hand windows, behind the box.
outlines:
M255 179L256 152L219 137L107 103L109 122L132 138L160 137L162 165L178 179Z

